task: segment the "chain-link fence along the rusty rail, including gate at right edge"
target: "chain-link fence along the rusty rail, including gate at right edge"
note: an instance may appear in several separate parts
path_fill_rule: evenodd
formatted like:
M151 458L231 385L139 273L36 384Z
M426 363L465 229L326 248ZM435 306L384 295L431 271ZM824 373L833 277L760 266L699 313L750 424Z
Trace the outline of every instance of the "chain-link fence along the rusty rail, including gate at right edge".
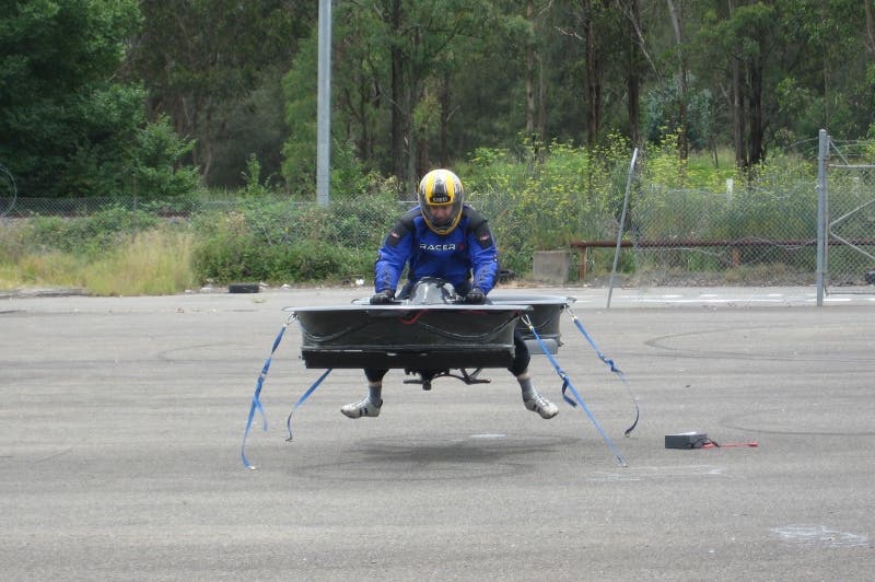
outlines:
M875 292L875 165L872 142L831 143L827 243L828 284ZM607 280L620 249L619 286L781 287L817 283L818 164L766 164L746 183L720 190L649 182L648 160L635 166L629 212L603 240L572 243L580 276Z

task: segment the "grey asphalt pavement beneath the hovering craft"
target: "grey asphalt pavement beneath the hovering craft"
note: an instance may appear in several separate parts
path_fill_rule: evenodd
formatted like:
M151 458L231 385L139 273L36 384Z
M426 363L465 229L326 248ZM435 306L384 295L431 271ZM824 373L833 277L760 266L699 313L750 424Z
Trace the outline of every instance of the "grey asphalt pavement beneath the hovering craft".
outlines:
M625 374L563 318L557 361L604 438L536 356L552 420L504 370L430 392L393 370L382 415L350 420L365 383L336 370L287 442L323 372L292 322L268 430L256 415L246 440L256 470L243 436L282 309L366 290L0 299L0 578L872 579L873 294L525 292L576 298ZM685 432L722 446L665 447Z

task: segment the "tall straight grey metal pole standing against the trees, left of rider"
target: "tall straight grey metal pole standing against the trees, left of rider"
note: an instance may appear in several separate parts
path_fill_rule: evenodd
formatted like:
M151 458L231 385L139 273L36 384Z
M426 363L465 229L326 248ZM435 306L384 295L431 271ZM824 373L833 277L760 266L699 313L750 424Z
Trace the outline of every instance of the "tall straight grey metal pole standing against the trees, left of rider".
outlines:
M319 0L319 70L316 98L316 201L319 206L328 206L331 185L331 0Z

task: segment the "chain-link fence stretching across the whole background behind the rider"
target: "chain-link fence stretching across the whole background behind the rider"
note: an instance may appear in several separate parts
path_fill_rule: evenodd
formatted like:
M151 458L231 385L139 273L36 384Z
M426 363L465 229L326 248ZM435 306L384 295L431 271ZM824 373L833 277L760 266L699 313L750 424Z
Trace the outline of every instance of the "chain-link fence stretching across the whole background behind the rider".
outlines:
M825 188L829 226L825 270L827 284L841 288L842 292L852 288L875 292L874 150L871 142L830 142ZM508 194L513 186L503 185L495 191L472 191L470 198L492 224L506 260L503 266L520 277L530 271L537 249L567 249L571 240L571 249L576 251L571 253L573 284L812 286L817 282L818 268L819 182L816 154L808 152L805 159L809 162L767 165L744 183L726 179L721 188L701 189L658 184L649 177L649 161L642 155L631 165L611 171L608 182L612 186L607 189L612 194L600 197L594 197L585 185L567 179L568 173L560 172L564 182L553 182L557 193L551 197L515 198ZM249 209L247 220L264 222L255 228L287 237L302 236L300 231L273 223L290 223L293 206L315 206L276 198L253 200L233 194L170 201L37 199L15 196L14 182L3 184L13 186L0 191L0 229L9 234L14 231L9 226L15 222L35 220L39 228L30 229L28 236L38 233L45 238L19 241L4 236L5 255L25 243L27 248L78 248L66 244L61 240L65 237L77 238L79 247L83 246L82 241L92 238L95 245L106 246L113 241L101 237L118 235L124 240L126 233L160 222L184 226L205 211L231 216L240 213L244 203ZM398 201L397 213L415 203ZM257 210L257 205L264 205L265 210ZM289 210L281 216L273 210L268 212L270 205L285 205ZM337 246L375 248L375 241L395 218L392 205L374 206L368 213L355 199L345 201L339 197L332 206L339 207L332 216L340 217L337 220L343 224L334 230L319 226L322 230L310 235ZM77 226L80 222L81 228ZM352 235L358 237L353 240ZM620 253L616 254L618 245Z

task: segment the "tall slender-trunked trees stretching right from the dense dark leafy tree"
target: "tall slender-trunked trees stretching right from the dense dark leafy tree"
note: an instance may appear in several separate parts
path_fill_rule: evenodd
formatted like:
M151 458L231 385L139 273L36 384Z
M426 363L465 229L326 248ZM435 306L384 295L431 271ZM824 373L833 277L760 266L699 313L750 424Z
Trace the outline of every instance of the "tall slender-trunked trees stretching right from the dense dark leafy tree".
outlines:
M657 141L673 133L686 144L681 154L733 143L738 165L749 166L771 144L812 135L824 118L865 133L875 106L872 2L335 4L332 167L393 176L407 191L424 170L464 161L479 147L514 149L523 132L590 146L614 133L633 143L639 132ZM303 61L312 57L316 7L143 5L147 27L133 47L150 112L166 112L198 139L194 159L208 182L228 184L247 152L275 164L282 143L291 189L310 184L315 65ZM283 123L277 80L290 67Z

